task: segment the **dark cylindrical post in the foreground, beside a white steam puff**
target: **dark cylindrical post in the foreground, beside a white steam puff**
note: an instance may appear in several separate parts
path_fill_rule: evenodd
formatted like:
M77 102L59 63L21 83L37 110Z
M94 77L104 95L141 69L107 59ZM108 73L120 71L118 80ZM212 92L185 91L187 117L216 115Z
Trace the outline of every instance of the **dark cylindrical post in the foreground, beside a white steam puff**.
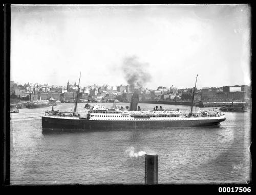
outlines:
M145 184L158 184L158 156L145 154Z

